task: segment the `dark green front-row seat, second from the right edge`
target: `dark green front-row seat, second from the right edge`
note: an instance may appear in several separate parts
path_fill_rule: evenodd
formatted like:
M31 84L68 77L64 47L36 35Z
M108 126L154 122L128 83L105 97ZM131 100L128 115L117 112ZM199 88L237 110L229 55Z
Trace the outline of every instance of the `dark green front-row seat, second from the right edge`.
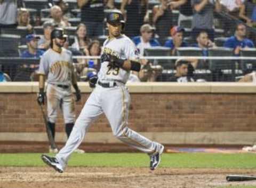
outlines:
M209 48L208 55L212 57L233 56L233 49L225 47ZM234 81L235 62L232 60L209 59L209 69L213 73L213 81Z

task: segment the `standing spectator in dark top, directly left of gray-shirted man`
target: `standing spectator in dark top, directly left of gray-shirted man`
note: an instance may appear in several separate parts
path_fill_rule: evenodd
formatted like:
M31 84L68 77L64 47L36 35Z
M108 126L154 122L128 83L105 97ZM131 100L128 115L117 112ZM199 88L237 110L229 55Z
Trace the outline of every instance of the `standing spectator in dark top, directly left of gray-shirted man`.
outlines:
M193 10L191 7L191 0L177 0L170 2L172 9L179 8L179 19L178 25L183 20L192 20L193 19Z

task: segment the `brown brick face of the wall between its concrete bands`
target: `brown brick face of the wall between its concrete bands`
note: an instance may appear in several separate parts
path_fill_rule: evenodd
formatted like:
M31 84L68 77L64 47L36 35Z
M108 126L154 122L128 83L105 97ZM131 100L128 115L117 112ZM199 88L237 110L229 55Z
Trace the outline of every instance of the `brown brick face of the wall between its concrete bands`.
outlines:
M77 115L89 93L76 105ZM131 93L129 126L140 132L256 131L254 93ZM0 132L44 132L35 93L0 92ZM57 131L63 132L59 114ZM102 115L90 132L110 132Z

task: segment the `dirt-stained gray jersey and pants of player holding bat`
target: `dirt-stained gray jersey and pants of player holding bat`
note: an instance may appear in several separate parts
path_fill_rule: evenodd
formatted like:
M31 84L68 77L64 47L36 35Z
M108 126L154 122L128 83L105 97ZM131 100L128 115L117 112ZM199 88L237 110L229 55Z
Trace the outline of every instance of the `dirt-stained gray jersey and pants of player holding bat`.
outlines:
M75 122L75 102L71 91L73 69L72 54L65 48L61 53L50 48L41 58L39 74L47 77L47 115L51 123L55 123L60 106L65 123Z

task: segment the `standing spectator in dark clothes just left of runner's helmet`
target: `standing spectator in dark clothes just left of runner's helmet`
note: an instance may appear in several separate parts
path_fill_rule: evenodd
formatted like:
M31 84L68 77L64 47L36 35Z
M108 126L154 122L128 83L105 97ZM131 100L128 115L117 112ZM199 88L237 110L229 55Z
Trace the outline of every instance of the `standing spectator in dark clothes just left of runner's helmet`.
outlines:
M103 35L104 4L103 0L77 0L81 9L81 21L87 26L88 37Z

